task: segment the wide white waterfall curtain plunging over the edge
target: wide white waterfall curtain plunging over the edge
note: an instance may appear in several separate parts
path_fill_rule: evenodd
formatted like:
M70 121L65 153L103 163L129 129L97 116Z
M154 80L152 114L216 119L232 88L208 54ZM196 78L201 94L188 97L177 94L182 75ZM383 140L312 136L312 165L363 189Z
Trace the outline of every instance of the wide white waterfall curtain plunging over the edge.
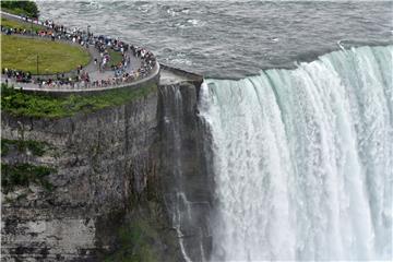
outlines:
M392 260L393 46L207 80L213 261Z

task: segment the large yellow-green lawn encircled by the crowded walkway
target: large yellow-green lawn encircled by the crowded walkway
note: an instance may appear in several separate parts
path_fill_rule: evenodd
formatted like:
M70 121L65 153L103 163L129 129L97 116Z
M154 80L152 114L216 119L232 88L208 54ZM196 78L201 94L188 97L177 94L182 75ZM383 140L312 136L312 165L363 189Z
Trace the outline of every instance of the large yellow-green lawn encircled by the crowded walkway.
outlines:
M29 71L37 74L53 74L75 70L79 64L87 64L91 56L82 47L63 43L1 36L1 68Z

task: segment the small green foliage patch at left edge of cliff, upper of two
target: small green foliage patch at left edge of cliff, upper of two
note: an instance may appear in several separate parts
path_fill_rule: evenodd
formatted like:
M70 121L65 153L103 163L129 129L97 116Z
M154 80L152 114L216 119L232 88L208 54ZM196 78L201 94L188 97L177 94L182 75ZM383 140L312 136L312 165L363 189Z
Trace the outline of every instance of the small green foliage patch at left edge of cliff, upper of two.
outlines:
M1 139L1 155L5 156L11 146L15 146L19 152L28 150L33 155L43 156L48 143L35 140L7 140Z

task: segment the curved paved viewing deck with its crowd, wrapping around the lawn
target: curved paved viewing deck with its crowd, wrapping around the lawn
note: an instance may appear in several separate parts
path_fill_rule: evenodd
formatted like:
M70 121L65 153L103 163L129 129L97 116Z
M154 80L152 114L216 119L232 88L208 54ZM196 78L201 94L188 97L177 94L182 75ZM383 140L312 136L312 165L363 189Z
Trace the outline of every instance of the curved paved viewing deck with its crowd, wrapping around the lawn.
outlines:
M93 36L90 32L80 29L71 31L67 28L66 31L66 27L62 29L63 26L61 26L61 31L59 31L59 25L55 25L55 23L51 26L48 26L44 23L38 23L37 21L4 12L1 12L1 17L19 22L21 25L35 24L44 28L43 34L38 34L37 31L22 31L17 27L2 26L2 35L12 35L25 39L51 40L52 43L80 46L88 51L91 57L88 64L84 66L81 70L74 69L69 72L57 74L31 75L28 81L17 78L14 74L12 76L10 76L10 73L7 75L7 72L2 71L1 82L13 85L15 88L22 88L26 92L58 93L61 95L70 93L90 94L92 92L102 92L114 88L135 87L150 82L158 83L159 63L155 60L154 56L144 48L134 48L119 39L107 36ZM55 28L55 26L58 27ZM116 49L115 45L117 45ZM112 52L118 52L118 56L121 56L122 63L120 68L110 68L110 61L114 58L109 56L107 50L112 50ZM106 56L109 57L109 60L105 62ZM153 63L151 61L152 59ZM104 64L107 64L106 68L104 68ZM4 70L4 68L2 69ZM12 68L8 70L11 70L15 74L16 72L22 72L19 69ZM23 74L27 72L23 71ZM84 78L86 75L87 78Z

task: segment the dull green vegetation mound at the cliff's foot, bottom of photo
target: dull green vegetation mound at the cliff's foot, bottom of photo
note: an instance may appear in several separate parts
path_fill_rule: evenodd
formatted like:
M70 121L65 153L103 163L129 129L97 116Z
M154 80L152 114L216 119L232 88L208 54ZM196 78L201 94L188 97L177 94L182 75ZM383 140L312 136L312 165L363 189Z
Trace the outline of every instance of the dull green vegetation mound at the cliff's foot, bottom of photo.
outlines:
M139 200L117 229L115 251L105 262L181 261L176 231L165 223L165 205L156 200Z

